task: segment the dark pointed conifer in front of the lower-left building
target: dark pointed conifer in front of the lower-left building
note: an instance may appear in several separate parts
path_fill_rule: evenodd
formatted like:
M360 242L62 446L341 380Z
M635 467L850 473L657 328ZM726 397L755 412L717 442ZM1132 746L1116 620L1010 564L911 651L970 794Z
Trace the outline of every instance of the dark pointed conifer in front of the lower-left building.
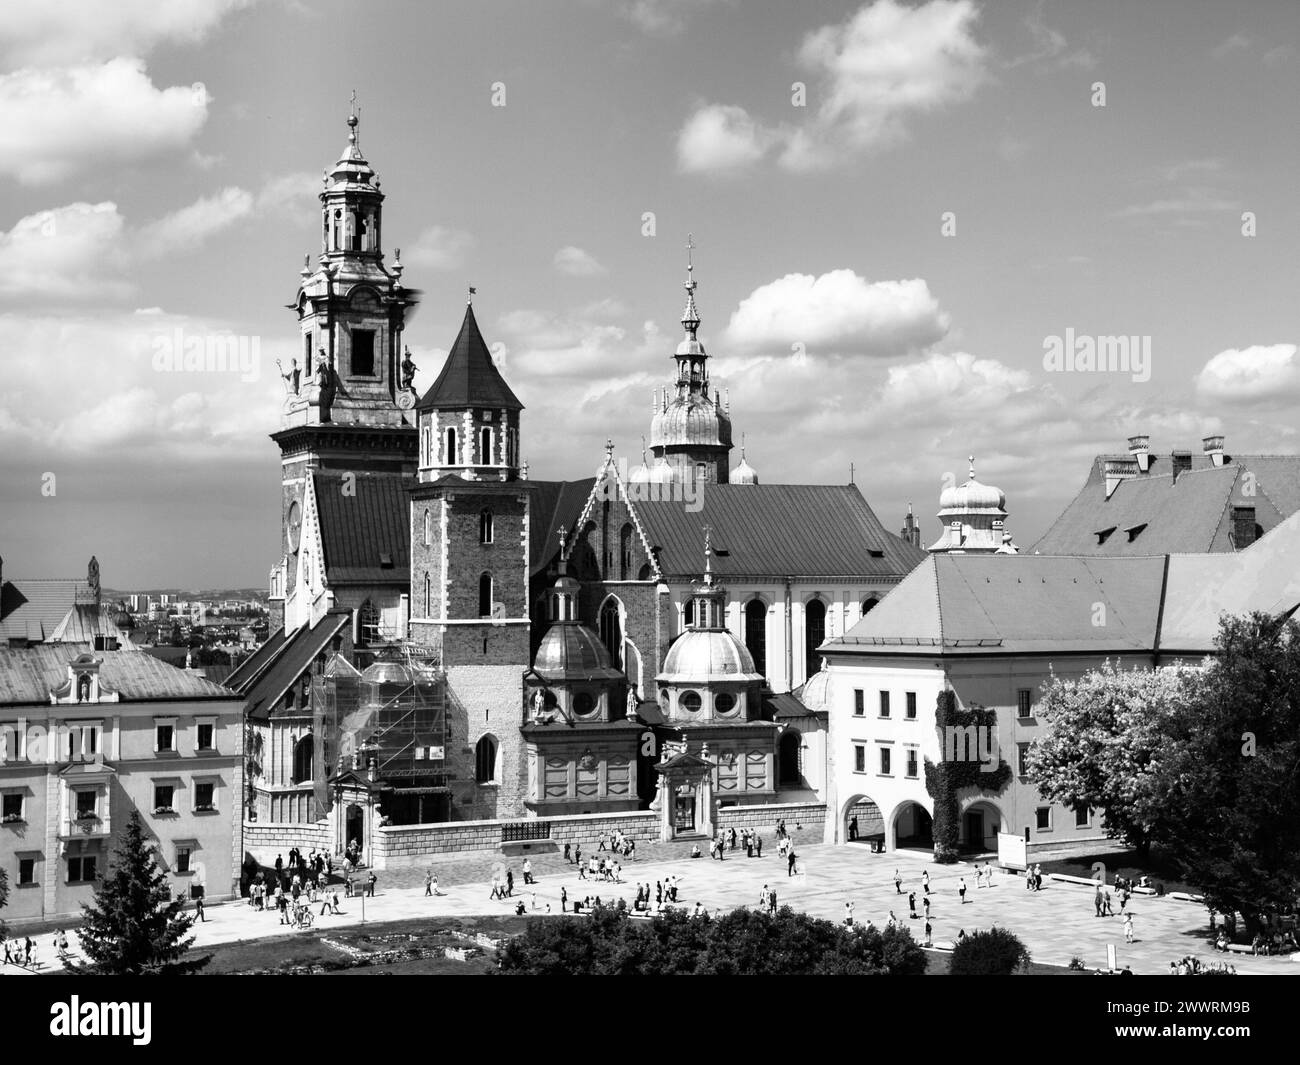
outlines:
M82 904L81 943L88 965L81 973L139 975L187 973L207 958L182 961L194 943L186 938L192 918L183 899L172 899L165 876L144 837L139 811L131 810L112 869L95 884L94 905Z

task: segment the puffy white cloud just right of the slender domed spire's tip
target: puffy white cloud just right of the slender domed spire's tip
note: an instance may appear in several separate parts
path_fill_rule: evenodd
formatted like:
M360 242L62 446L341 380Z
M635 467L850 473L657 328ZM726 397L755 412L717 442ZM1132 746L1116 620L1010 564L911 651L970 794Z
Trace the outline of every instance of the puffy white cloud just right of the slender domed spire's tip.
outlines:
M801 343L842 355L900 355L940 339L948 315L920 278L867 281L840 269L792 273L755 289L727 324L738 351L789 352Z

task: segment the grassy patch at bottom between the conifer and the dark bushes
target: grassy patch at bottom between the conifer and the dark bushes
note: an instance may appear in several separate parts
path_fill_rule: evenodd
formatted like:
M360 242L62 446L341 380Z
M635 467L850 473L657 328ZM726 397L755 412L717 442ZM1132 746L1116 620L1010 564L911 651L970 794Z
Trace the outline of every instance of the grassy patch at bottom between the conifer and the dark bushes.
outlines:
M335 928L329 932L299 932L292 938L276 936L224 943L195 953L211 957L202 970L204 975L248 973L481 975L495 969L494 956L491 952L480 952L467 961L443 957L445 947L473 947L452 932L471 936L484 932L498 938L516 932L521 927L523 919L517 917L393 921ZM332 944L341 944L346 949Z

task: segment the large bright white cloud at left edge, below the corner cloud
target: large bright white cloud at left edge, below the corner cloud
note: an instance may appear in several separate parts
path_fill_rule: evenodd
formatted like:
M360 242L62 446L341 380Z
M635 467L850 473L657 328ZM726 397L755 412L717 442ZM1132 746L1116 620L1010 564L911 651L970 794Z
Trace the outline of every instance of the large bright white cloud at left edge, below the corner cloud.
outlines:
M0 74L0 174L43 185L183 148L209 100L202 85L155 88L134 59Z

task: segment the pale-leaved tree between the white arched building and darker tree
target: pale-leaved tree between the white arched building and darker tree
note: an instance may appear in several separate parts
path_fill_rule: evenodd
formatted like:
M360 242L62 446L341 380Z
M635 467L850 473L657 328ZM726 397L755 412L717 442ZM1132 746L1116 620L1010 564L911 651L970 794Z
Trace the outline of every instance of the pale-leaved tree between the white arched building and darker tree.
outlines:
M1165 810L1160 756L1199 677L1195 668L1109 662L1078 680L1053 676L1036 710L1049 728L1030 748L1030 780L1052 802L1100 810L1108 835L1145 858Z

